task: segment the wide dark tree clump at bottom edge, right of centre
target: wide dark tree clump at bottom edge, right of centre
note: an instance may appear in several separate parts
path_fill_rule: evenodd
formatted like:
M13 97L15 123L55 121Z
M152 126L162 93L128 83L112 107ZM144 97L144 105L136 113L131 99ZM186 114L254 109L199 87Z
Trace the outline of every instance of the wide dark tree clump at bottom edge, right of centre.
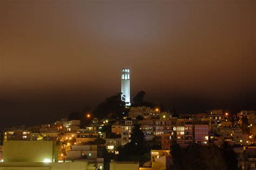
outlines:
M238 161L232 148L217 146L190 145L181 148L178 144L172 145L173 166L171 169L188 170L235 170Z

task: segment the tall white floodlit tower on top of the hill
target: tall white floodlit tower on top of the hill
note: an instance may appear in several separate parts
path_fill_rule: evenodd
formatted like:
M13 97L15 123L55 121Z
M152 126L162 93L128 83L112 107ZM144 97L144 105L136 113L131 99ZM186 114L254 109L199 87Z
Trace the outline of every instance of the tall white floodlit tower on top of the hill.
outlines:
M126 106L131 106L130 102L130 70L122 69L122 86L121 92L125 96Z

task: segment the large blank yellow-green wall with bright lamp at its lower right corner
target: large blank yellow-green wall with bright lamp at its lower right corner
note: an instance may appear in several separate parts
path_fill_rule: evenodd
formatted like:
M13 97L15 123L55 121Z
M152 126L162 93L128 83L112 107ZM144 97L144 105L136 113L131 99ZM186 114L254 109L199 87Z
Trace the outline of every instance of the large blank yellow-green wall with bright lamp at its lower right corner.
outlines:
M54 141L4 141L4 162L53 161ZM56 160L58 158L56 157Z

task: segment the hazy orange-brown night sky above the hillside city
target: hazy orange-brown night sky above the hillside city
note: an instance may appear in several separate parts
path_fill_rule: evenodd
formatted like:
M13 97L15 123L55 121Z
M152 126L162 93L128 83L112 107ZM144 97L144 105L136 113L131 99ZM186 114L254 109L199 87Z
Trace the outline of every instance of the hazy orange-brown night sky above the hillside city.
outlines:
M120 92L178 112L256 109L256 1L0 1L0 128Z

